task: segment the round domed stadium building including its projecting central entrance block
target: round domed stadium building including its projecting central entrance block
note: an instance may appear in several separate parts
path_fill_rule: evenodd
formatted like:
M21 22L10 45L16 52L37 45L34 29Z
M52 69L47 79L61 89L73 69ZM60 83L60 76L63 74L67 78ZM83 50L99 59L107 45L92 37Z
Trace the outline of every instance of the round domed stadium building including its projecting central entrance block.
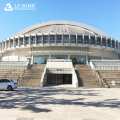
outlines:
M119 56L118 40L94 27L72 21L38 23L0 42L1 62L46 64L43 68L46 82L42 74L41 86L46 83L78 86L75 65L89 65L90 60L119 60Z

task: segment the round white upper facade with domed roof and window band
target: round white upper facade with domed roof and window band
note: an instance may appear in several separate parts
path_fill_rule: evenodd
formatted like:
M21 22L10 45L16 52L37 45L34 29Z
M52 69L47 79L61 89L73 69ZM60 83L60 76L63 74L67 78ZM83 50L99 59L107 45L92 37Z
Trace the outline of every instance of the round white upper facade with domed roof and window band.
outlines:
M85 58L87 64L88 59L119 59L120 42L85 24L52 21L1 41L0 54L3 61L31 59L33 64L34 57L77 57Z

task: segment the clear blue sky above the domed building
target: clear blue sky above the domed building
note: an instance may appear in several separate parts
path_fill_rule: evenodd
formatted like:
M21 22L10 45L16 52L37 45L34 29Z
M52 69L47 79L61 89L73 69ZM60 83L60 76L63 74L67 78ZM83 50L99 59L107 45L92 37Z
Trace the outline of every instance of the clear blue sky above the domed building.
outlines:
M7 3L13 11L4 11ZM34 4L36 10L14 10L15 4ZM45 21L69 20L95 27L120 40L120 0L1 0L0 41Z

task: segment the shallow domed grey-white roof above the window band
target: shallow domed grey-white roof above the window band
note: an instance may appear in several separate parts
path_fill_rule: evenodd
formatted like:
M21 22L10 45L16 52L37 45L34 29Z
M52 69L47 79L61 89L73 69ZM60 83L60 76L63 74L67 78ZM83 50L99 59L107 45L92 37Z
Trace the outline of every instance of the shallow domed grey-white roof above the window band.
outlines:
M84 33L108 36L104 32L89 25L64 20L38 23L17 32L13 36L36 33Z

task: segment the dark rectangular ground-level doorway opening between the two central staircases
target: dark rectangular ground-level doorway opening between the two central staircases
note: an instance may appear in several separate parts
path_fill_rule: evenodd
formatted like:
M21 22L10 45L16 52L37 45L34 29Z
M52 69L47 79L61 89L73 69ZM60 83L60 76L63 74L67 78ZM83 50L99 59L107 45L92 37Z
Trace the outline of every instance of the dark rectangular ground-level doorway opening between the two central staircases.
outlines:
M72 74L47 74L47 84L72 84Z

